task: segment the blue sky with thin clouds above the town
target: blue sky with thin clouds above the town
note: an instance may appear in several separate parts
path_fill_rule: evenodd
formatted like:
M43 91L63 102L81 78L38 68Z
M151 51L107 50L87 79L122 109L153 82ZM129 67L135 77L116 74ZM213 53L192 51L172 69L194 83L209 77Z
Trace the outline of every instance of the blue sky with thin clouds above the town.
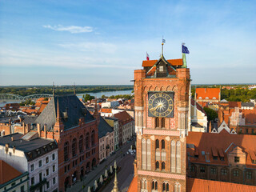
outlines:
M146 51L192 83L256 82L255 1L0 0L0 86L131 84Z

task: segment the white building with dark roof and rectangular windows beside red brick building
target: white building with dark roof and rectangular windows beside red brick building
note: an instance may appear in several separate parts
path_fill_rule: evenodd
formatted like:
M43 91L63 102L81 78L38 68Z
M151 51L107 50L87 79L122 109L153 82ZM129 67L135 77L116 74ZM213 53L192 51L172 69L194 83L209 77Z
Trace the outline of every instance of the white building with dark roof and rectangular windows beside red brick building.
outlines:
M6 135L0 138L0 159L29 173L30 191L58 191L58 145L54 140Z

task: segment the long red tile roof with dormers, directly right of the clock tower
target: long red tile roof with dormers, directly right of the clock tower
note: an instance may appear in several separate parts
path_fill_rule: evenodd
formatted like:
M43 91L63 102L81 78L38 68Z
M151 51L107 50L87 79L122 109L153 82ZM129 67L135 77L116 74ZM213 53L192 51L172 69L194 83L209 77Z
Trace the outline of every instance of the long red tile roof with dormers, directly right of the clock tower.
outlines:
M249 154L249 151L256 152L256 135L249 134L211 134L211 133L199 133L199 132L189 132L188 137L186 138L186 142L188 144L194 144L195 148L198 149L199 155L198 158L190 157L191 162L196 163L204 163L215 165L228 165L228 160L226 157L225 150L229 148L232 144L233 146L241 147L246 154ZM214 146L213 146L214 143ZM216 148L216 150L224 151L224 161L221 161L220 158L218 160L214 160L212 154L212 148ZM202 151L210 154L210 162L206 162L206 158L202 155ZM187 148L187 152L189 152L192 156L194 155L194 150ZM227 151L226 151L227 152ZM246 155L246 167L256 168L256 165L252 163L250 155Z

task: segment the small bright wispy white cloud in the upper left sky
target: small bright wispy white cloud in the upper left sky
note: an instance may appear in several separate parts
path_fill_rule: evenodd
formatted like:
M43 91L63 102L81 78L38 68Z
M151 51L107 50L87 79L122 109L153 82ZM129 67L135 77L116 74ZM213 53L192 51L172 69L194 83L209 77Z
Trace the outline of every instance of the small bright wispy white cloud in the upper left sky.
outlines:
M51 30L58 30L58 31L68 31L71 34L80 34L80 33L90 33L94 31L94 28L91 26L43 26L45 28L51 29Z

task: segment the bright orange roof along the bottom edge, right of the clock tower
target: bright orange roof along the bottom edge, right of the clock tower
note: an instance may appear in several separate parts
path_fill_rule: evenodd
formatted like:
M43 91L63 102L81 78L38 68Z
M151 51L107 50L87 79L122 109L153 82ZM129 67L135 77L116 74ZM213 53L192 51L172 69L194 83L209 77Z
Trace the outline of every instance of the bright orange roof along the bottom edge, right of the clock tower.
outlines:
M232 182L217 182L198 178L186 178L188 192L254 192L256 186L247 186Z

